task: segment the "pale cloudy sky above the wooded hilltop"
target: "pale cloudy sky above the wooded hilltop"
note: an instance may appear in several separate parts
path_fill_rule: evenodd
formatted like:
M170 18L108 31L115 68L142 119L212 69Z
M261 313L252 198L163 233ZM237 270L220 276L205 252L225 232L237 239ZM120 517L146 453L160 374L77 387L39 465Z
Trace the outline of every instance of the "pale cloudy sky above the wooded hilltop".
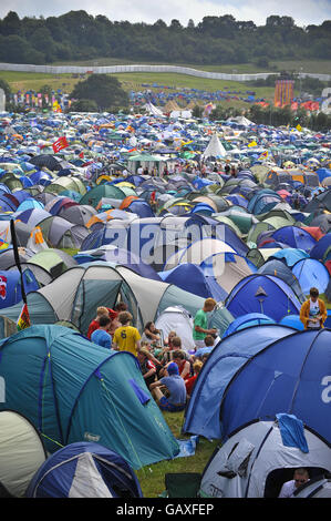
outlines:
M0 19L9 11L23 17L59 17L69 11L84 10L89 14L103 14L112 21L154 23L173 19L187 25L204 17L232 14L236 20L252 20L265 25L271 14L292 17L296 25L321 24L331 20L331 0L0 0Z

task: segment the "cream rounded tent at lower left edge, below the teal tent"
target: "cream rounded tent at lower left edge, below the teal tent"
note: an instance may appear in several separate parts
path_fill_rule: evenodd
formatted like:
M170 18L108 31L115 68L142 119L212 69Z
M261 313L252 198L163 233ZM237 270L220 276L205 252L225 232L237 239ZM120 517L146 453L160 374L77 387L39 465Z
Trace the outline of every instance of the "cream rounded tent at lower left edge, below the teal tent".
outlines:
M0 369L1 372L1 369ZM0 378L1 400L6 388ZM46 460L41 436L28 418L13 410L0 411L0 489L8 497L23 498L40 466ZM0 490L1 498L1 490Z

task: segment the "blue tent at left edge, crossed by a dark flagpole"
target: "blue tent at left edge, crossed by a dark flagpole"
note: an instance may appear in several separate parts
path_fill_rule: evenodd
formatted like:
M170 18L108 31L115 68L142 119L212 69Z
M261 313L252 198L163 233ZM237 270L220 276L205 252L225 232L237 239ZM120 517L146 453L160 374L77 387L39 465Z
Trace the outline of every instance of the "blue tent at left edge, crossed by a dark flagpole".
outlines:
M23 273L25 294L37 292L39 284L31 269ZM18 269L0 272L0 309L22 300L21 275Z

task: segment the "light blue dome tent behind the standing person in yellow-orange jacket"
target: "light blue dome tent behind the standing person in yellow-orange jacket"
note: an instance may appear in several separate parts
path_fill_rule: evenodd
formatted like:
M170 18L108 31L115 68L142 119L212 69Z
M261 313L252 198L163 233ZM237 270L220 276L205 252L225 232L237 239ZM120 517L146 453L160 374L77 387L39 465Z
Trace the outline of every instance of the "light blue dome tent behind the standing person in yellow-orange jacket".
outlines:
M324 293L330 275L325 266L316 258L303 258L292 266L292 273L298 278L304 295L309 295L311 287Z

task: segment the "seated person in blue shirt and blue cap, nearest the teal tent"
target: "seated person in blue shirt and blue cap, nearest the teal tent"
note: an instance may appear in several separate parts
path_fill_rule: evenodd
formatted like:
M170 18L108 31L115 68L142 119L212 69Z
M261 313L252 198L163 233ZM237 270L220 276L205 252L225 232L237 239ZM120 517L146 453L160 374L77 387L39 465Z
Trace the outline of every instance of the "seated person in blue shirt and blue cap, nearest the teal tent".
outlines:
M161 390L165 388L167 397ZM172 361L167 366L166 376L149 386L149 390L156 399L161 410L177 412L185 409L186 387L185 381L179 376L177 364Z

